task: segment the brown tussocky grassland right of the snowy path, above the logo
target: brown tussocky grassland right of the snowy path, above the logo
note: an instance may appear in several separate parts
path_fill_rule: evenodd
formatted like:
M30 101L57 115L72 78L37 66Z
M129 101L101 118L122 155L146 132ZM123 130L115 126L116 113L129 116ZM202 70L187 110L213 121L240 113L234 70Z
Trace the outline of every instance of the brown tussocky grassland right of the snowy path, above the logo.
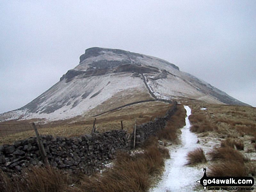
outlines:
M246 149L246 152L255 152L252 147L256 145L256 108L204 104L208 110L201 111L201 105L202 103L193 103L192 115L189 118L192 124L191 131L197 133L212 131L210 134L219 138L226 138L221 142L220 148L213 148L208 153L213 161L208 169L208 175L255 175L255 162L251 162L246 155L243 155L244 153L238 150ZM204 119L202 119L202 116ZM205 136L208 135L202 137ZM249 141L246 141L247 139ZM249 142L252 143L251 146L247 145Z

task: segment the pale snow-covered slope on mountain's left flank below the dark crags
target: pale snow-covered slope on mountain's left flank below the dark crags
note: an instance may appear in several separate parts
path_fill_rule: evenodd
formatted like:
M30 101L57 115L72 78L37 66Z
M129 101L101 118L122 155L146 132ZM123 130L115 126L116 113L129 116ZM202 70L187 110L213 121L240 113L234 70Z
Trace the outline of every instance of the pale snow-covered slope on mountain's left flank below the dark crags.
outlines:
M8 120L18 118L19 114L24 115L21 119L45 118L48 121L76 117L95 108L122 90L135 88L139 90L145 89L143 81L140 78L131 77L130 74L124 73L75 78L68 83L60 81L44 93L44 97L47 99L40 104L37 113L18 110L13 112ZM82 95L85 92L89 94L83 99ZM65 100L67 100L66 103L63 103ZM76 106L74 105L75 102L78 103ZM55 105L60 105L61 107L52 113L44 112L45 107L52 106L54 108Z

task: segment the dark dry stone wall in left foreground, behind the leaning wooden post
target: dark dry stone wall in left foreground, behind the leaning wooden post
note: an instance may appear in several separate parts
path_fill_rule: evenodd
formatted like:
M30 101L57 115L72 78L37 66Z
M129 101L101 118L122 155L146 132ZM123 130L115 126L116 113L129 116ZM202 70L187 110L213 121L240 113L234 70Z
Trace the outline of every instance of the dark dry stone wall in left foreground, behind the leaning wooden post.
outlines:
M126 131L114 130L102 134L74 138L42 136L50 165L57 168L80 170L90 175L113 158L117 149L127 147ZM28 165L42 165L35 137L16 141L14 145L0 146L0 169L20 171Z

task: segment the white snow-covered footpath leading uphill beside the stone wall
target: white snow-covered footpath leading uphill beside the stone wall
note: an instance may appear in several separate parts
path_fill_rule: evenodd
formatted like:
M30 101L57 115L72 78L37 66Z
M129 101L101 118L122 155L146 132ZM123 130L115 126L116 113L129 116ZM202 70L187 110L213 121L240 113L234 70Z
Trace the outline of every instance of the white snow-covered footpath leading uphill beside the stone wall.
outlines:
M191 125L188 116L191 115L191 109L185 105L184 108L187 111L187 117L185 118L186 125L181 128L181 145L169 147L171 158L165 161L162 180L150 192L198 191L198 187L197 190L195 189L195 186L199 185L196 181L201 179L203 171L201 168L186 165L186 156L188 152L200 147L200 145L197 144L197 136L189 131Z

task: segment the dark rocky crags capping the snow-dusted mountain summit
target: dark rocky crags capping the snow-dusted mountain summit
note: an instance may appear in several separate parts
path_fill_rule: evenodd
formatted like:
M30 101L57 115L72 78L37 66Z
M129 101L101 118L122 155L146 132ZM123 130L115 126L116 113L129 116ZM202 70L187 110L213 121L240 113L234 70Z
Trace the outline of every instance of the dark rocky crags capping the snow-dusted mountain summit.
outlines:
M150 73L156 72L160 73L159 68L142 65L140 63L143 59L151 59L152 57L146 56L143 54L132 53L130 51L123 51L119 49L108 49L108 48L100 48L100 47L92 47L85 50L85 54L80 56L80 64L85 62L86 59L93 57L98 57L101 55L105 55L106 57L110 54L115 54L119 58L113 58L112 60L97 58L95 61L91 61L87 64L86 70L77 70L72 69L69 70L66 74L64 74L60 81L65 80L66 82L71 81L74 77L82 75L82 77L90 77L90 76L99 76L108 74L110 72L119 73L119 72L132 72L132 73ZM179 70L174 64L171 64L167 61L160 60L158 58L154 58L156 62L168 64L176 70Z

